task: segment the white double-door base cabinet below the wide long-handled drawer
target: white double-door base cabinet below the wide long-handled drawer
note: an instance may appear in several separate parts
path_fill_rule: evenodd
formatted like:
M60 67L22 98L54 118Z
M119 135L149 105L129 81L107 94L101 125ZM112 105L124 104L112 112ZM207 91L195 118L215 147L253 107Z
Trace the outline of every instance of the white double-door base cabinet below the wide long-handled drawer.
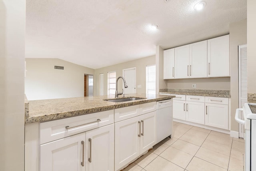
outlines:
M40 145L40 171L114 170L114 124Z

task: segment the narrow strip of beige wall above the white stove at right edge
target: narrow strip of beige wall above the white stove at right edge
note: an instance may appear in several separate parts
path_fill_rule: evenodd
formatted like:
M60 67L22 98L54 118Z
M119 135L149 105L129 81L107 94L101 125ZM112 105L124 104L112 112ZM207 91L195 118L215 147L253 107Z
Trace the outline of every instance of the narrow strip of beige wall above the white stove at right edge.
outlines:
M248 93L256 93L256 0L247 0ZM255 99L256 100L256 99Z

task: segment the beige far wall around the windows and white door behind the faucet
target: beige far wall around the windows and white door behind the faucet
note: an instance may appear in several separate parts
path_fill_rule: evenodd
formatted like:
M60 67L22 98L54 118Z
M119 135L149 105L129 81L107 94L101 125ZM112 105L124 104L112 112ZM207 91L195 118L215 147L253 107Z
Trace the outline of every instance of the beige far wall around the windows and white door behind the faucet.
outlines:
M104 68L95 70L94 75L94 95L100 94L100 74L104 74L104 95L108 94L108 72L116 71L116 77L122 76L123 69L136 67L136 85L141 85L141 88L136 89L136 93L146 93L146 66L156 64L155 56L132 60ZM121 80L121 79L120 79ZM118 81L118 91L122 91L121 81ZM128 83L127 83L128 84ZM129 85L128 85L129 86Z

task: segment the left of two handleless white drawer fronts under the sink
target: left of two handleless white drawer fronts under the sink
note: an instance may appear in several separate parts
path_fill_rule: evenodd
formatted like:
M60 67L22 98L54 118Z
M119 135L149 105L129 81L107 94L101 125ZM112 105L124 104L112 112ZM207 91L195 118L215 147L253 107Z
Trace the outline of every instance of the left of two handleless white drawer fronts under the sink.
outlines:
M115 109L115 122L122 121L140 115L140 105Z

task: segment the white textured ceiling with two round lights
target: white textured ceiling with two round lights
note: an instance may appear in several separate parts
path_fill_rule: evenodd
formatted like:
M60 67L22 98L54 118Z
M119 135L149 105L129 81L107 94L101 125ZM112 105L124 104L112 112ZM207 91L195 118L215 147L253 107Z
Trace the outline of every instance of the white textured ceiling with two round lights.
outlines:
M246 0L27 0L26 58L102 68L229 33ZM159 27L153 30L151 24Z

